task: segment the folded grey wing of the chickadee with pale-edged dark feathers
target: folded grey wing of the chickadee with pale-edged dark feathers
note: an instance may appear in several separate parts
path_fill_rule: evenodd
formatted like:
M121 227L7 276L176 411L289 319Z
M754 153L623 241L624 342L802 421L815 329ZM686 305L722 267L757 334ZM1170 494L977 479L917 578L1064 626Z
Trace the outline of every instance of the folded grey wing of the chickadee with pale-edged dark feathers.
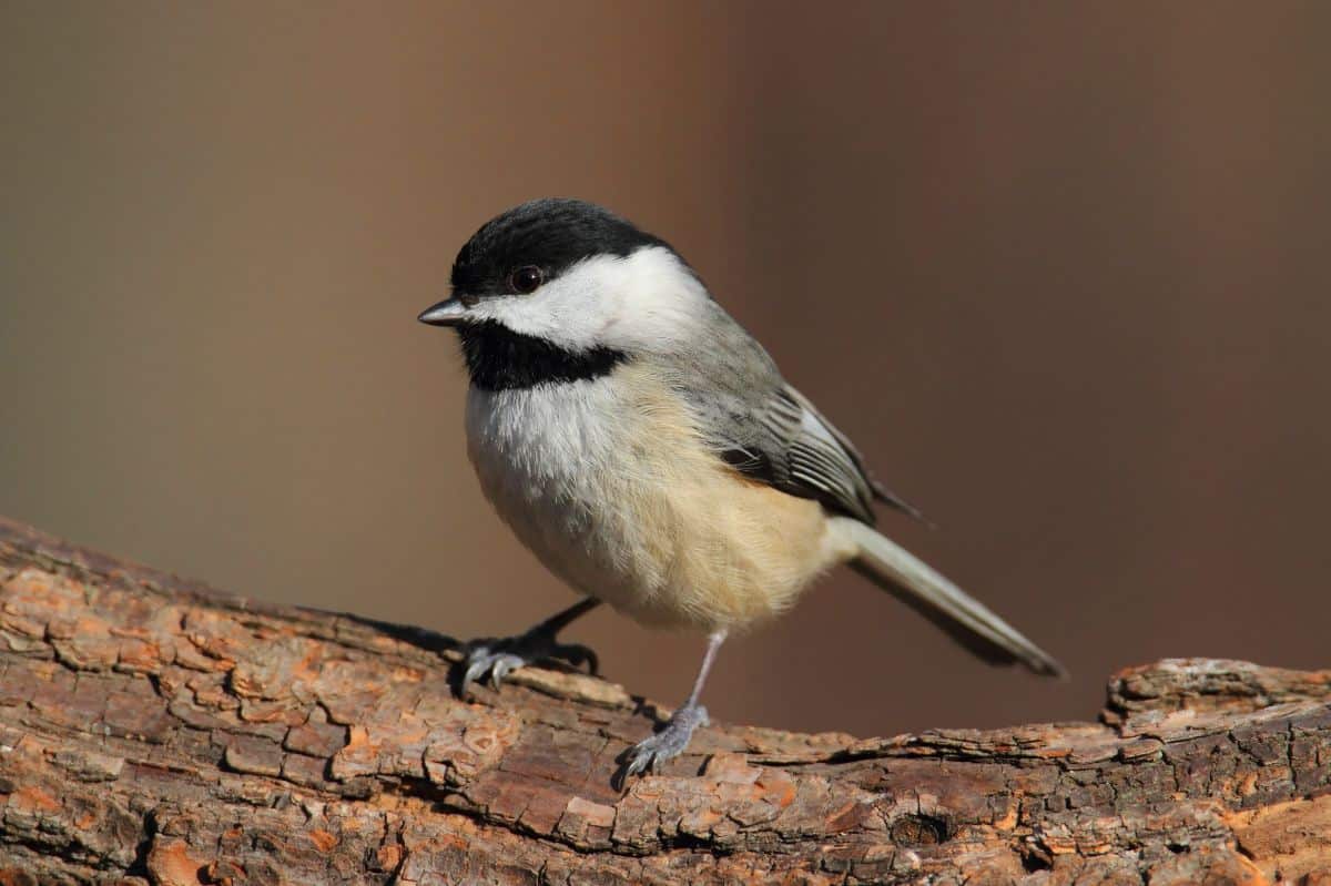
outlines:
M713 341L675 367L708 446L745 476L870 525L874 500L920 516L869 476L851 440L785 383L748 333L716 310Z

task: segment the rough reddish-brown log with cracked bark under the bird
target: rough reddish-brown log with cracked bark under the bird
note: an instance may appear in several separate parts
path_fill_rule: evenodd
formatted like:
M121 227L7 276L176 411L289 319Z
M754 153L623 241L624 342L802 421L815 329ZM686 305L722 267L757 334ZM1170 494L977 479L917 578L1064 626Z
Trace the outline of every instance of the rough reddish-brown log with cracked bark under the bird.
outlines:
M713 725L0 520L0 883L1331 883L1331 672L1166 660L1097 722ZM455 678L455 676L454 676Z

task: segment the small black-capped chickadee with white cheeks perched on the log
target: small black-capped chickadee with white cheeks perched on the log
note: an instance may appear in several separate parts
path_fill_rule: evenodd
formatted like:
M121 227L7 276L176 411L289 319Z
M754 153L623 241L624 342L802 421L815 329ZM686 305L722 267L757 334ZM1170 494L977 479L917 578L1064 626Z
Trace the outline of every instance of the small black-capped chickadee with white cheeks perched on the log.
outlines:
M463 690L550 657L600 603L708 637L693 690L626 754L632 776L677 756L732 632L780 615L849 563L994 664L1057 661L873 529L881 502L914 508L725 310L669 243L594 204L535 200L458 253L453 298L419 317L462 339L467 452L499 516L587 599L510 640L474 647Z

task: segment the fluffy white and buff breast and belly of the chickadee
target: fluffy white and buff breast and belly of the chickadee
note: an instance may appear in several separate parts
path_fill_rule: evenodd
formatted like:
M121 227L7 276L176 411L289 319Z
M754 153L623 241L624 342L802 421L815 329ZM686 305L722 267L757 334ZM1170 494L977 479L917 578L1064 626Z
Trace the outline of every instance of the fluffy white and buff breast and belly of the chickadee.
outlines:
M821 506L733 472L640 371L615 379L469 398L480 486L555 575L640 621L715 631L783 611L845 557Z

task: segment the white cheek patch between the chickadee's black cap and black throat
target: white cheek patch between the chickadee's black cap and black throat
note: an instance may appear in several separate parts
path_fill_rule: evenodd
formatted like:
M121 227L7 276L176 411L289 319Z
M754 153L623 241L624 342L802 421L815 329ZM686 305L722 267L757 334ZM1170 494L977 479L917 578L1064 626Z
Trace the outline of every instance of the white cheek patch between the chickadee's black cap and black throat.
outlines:
M656 350L687 339L707 290L668 249L582 261L531 295L483 299L471 315L560 347Z

